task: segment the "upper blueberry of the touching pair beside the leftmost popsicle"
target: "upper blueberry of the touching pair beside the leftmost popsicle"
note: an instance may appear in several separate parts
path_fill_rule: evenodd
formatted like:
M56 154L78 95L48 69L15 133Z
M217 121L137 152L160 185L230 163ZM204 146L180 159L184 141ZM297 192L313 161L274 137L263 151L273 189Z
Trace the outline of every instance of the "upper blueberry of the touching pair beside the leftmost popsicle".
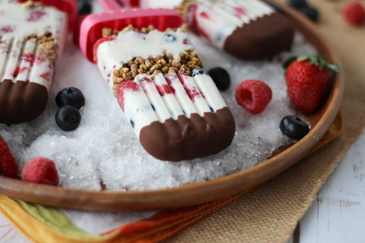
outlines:
M80 110L85 106L85 97L79 89L70 87L59 91L56 95L56 104L58 107L71 105Z

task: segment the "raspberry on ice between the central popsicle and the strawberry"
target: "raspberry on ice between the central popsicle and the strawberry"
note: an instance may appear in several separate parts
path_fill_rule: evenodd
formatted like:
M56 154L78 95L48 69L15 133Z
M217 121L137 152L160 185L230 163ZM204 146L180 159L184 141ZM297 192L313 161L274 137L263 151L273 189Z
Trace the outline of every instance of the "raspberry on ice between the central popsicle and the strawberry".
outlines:
M241 82L235 93L238 105L251 114L259 114L265 110L272 99L270 87L260 80L246 80Z

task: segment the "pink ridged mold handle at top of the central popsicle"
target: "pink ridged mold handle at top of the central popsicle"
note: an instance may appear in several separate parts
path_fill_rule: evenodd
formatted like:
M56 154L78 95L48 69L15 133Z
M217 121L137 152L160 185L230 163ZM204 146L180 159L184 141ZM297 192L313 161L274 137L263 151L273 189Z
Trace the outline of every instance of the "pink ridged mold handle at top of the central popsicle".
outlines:
M85 57L94 62L93 47L97 40L103 38L103 28L123 30L132 24L141 29L153 25L159 31L178 28L184 20L172 9L120 9L114 12L97 13L87 16L81 23L80 48Z

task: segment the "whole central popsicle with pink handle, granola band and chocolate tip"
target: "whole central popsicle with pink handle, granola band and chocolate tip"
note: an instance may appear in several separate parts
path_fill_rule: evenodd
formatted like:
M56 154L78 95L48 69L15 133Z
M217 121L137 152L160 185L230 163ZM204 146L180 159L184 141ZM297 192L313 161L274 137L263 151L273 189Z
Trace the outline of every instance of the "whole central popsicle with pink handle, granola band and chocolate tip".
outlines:
M97 63L142 146L160 160L216 154L235 134L233 115L182 24L170 9L133 9L92 15L81 25L82 51Z

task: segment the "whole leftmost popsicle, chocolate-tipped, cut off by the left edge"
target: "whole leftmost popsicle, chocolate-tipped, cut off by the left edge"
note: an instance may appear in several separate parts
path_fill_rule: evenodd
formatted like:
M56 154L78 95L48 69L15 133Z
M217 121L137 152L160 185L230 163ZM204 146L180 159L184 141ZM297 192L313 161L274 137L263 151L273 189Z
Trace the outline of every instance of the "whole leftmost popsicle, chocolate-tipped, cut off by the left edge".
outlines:
M77 6L74 0L43 2L0 0L0 123L31 121L47 104Z

